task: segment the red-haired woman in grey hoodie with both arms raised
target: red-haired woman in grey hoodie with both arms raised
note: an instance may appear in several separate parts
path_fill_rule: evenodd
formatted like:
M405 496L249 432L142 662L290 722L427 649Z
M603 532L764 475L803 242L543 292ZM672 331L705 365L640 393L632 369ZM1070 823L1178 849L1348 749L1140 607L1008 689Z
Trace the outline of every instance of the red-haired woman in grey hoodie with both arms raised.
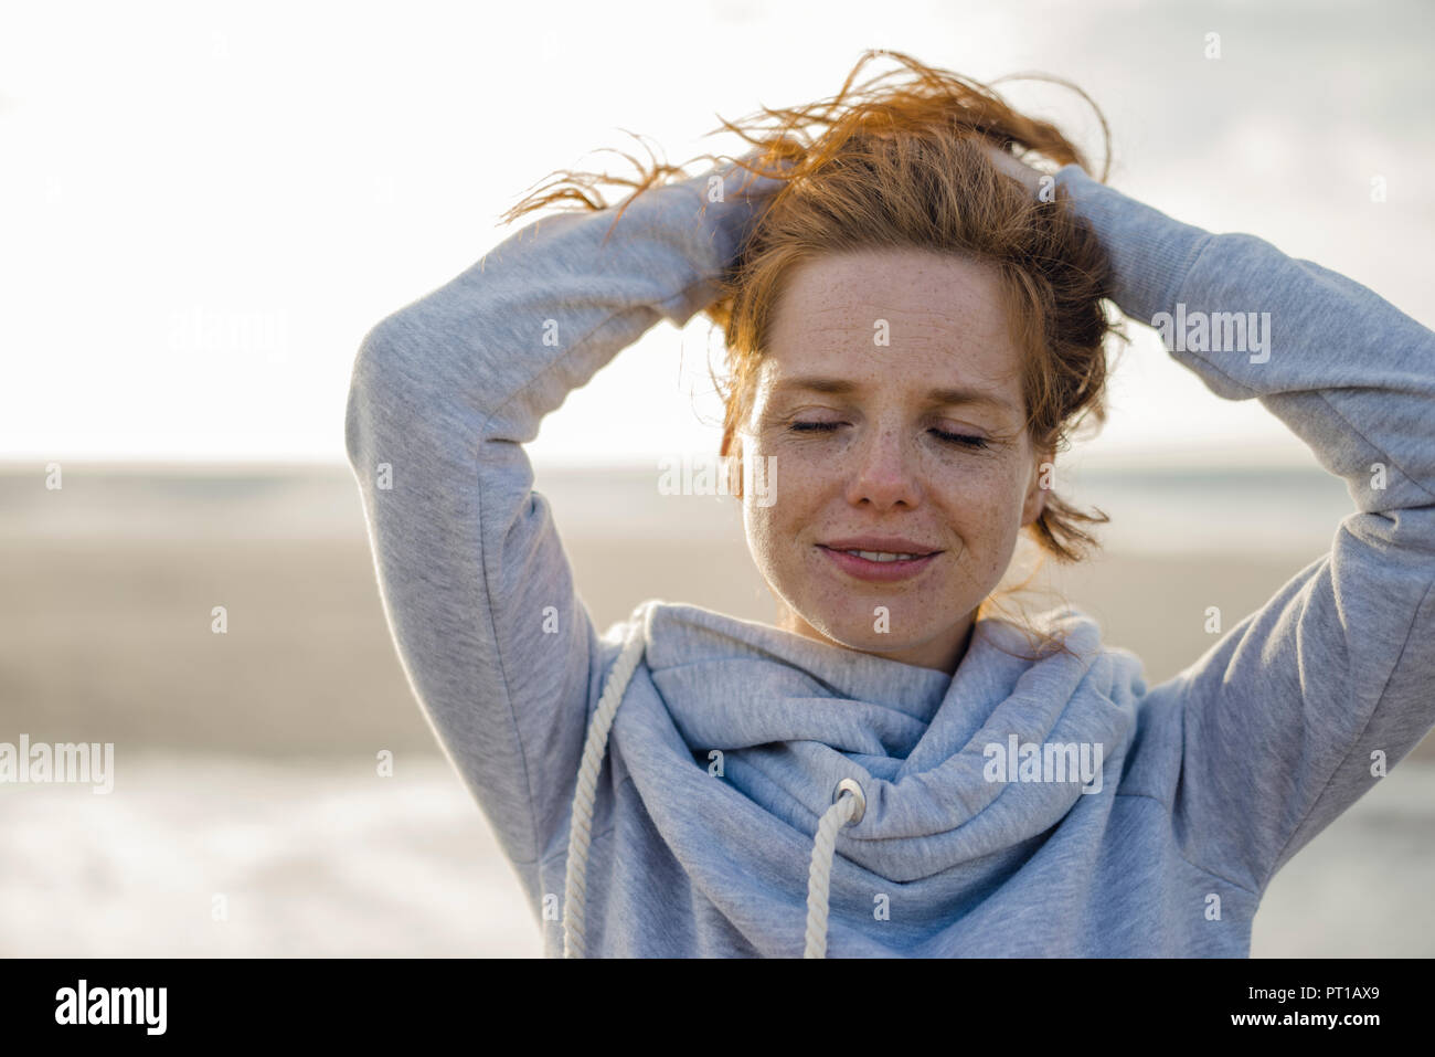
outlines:
M590 213L367 335L347 447L406 672L548 954L1248 955L1276 870L1435 724L1435 339L897 59L911 85L769 111L740 165L532 201ZM1102 520L1050 471L1101 419L1104 299L1356 507L1149 688L1079 610L993 615L1020 533L1069 562ZM600 636L522 445L697 312L784 616L649 602Z

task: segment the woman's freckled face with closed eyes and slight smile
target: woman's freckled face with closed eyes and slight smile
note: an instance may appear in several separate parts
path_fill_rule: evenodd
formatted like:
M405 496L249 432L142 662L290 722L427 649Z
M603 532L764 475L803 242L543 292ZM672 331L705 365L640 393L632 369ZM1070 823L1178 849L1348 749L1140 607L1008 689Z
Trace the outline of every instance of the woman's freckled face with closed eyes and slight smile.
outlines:
M987 264L921 250L788 274L738 438L765 481L745 487L743 518L781 626L956 671L1042 511L1052 457L1023 428L997 283ZM884 553L844 553L857 550Z

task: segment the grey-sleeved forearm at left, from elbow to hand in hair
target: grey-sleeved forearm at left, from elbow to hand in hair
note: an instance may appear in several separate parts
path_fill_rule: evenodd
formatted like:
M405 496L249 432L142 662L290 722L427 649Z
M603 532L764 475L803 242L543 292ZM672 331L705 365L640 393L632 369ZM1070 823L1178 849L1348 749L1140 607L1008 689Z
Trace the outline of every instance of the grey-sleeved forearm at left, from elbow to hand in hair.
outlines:
M616 224L620 207L534 221L375 326L359 375L402 394L396 409L443 421L465 451L479 431L531 441L617 352L712 303L755 217L752 194L771 187L738 194L746 174L726 169L722 201L709 201L715 172L649 188Z

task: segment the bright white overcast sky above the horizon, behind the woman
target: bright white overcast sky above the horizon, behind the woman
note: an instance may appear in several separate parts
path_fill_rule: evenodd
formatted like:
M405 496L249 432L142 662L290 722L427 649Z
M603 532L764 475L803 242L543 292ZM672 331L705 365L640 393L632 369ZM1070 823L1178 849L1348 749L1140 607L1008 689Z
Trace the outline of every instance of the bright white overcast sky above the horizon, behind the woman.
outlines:
M623 169L600 151L641 157L629 132L674 164L735 151L719 115L831 96L870 47L1068 78L1115 188L1435 326L1432 45L1435 6L1399 1L0 3L0 460L342 462L364 333L550 172ZM1071 93L1007 95L1101 157ZM1082 452L1313 464L1128 332ZM706 320L659 325L530 454L715 451L719 350Z

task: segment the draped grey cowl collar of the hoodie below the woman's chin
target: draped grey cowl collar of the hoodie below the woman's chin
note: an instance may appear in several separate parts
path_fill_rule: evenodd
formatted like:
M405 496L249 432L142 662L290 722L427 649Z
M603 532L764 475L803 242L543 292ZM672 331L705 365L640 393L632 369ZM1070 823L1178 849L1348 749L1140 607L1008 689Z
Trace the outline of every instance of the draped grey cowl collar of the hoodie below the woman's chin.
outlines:
M1114 786L1144 692L1139 661L1104 648L1098 625L1072 607L1038 618L1069 652L1025 659L1027 639L984 619L947 675L697 606L650 605L634 678L649 689L618 709L613 745L677 844L700 839L700 811L778 820L802 850L838 783L854 778L865 813L839 832L838 855L895 882L930 877L1049 830L1091 794L1083 787ZM997 755L1013 763L1017 745L1086 747L1101 771L1086 783L993 780Z

